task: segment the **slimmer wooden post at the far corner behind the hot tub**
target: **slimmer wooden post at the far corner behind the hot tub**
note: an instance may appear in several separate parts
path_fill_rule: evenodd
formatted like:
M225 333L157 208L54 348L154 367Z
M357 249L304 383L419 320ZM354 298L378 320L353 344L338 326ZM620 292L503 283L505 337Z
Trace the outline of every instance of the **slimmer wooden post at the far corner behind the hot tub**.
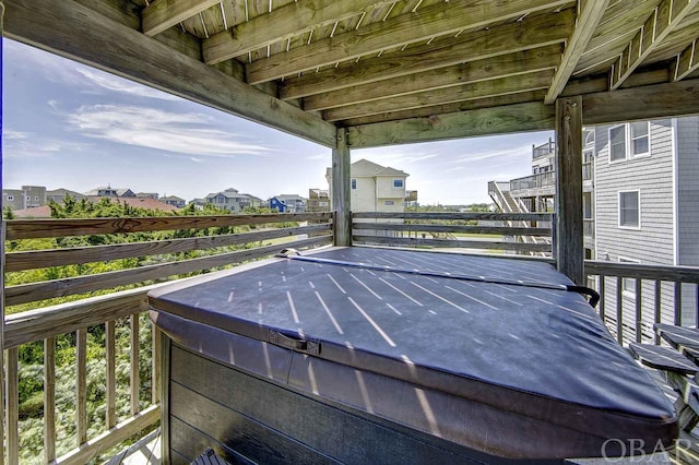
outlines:
M335 246L352 246L350 195L350 147L346 130L340 128L337 147L332 151L332 229Z

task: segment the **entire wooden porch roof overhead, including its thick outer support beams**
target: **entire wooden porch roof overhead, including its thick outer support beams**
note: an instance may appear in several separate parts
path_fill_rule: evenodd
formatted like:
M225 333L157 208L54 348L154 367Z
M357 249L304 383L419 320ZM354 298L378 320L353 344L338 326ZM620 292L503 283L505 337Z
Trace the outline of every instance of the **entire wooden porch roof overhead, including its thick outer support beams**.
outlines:
M11 38L330 147L699 112L696 1L3 3Z

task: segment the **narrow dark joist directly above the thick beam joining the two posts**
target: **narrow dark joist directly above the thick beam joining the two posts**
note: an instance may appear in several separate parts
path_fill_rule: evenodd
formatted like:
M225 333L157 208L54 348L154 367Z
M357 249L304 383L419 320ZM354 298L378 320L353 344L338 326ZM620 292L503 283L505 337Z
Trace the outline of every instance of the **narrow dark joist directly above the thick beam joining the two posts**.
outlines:
M401 119L431 117L436 115L455 114L460 111L478 110L481 108L500 107L530 102L543 102L545 90L519 92L517 94L498 95L497 97L478 98L476 100L457 102L454 104L420 107L410 110L389 111L360 118L350 118L340 122L343 127L372 124L375 122L396 121Z

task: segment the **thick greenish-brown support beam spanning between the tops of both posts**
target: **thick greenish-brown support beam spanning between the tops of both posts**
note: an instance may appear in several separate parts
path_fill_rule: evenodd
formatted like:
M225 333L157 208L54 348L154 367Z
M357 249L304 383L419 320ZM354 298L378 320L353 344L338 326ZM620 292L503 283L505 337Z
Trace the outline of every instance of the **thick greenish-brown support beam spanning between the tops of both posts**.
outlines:
M554 107L543 103L528 103L356 126L348 128L347 143L352 148L363 148L478 135L544 131L553 128Z

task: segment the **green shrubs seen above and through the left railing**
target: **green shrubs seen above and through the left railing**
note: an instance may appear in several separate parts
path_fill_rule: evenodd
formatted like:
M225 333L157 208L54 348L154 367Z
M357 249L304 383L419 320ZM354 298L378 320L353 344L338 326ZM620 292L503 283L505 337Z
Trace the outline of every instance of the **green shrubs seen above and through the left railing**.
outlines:
M52 218L90 218L90 217L150 217L163 215L227 215L228 211L218 208L212 204L203 210L198 210L189 205L180 211L166 213L162 211L151 211L127 205L126 203L115 203L109 199L99 202L87 200L75 201L67 196L63 203L50 203ZM247 208L242 213L264 214L276 213L269 208ZM13 217L10 210L4 212L5 218ZM265 225L265 227L289 227L295 223L281 223ZM7 241L8 252L47 250L58 248L74 248L90 246L107 246L127 242L141 242L152 240L167 240L178 238L204 237L227 234L238 234L249 231L256 225L236 227L210 227L202 229L179 229L171 231L155 233L129 233L114 235L75 236L60 238L22 239ZM110 271L134 269L154 263L169 261L188 260L236 249L261 246L261 243L247 243L239 246L228 246L217 249L194 250L187 252L170 253L167 255L151 255L143 258L128 258L108 262L85 263L66 266L49 266L44 269L27 270L21 272L7 273L5 285L35 283L43 281L59 279L66 277L81 276L86 274L97 274ZM203 273L196 272L190 274ZM138 286L150 284L150 282L139 283ZM137 285L120 286L112 289L90 293L86 295L55 298L42 302L28 302L9 308L8 313L36 309L49 305L61 303L69 300L76 300L87 296L108 294ZM139 344L139 370L141 372L141 388L139 403L144 407L150 404L151 397L151 325L146 315L141 315ZM125 419L130 416L130 324L129 319L116 322L116 379L117 379L117 418ZM105 427L106 413L106 354L105 354L105 327L97 325L88 329L87 334L87 425L88 437L94 437ZM42 342L24 344L19 347L20 361L20 451L22 463L43 463L43 414L44 414L44 347ZM57 412L57 453L63 454L75 444L75 334L66 334L56 338L56 412Z

